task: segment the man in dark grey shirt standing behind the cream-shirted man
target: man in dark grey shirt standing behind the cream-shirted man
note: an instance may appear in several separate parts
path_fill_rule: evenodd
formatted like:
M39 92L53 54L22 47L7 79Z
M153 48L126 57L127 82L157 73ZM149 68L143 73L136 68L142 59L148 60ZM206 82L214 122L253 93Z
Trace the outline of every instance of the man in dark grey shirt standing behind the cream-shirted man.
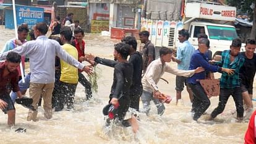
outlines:
M155 56L155 46L148 40L150 33L147 30L143 30L139 33L140 41L145 43L143 47L143 72L145 73L148 65L156 59Z

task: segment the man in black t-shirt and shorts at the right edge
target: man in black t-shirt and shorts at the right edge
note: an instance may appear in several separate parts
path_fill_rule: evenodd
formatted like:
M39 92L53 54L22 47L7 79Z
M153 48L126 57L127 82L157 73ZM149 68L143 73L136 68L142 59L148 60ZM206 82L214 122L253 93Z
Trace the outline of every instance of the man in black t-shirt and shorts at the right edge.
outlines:
M249 39L245 43L245 52L241 54L244 56L245 62L240 70L242 98L247 108L247 115L252 112L252 89L254 84L254 76L256 72L256 42Z

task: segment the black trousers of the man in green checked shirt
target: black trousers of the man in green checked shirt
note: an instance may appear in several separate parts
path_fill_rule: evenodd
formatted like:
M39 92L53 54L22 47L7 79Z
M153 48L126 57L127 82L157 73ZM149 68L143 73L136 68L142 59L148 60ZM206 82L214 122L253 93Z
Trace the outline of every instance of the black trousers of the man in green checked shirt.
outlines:
M244 116L244 107L242 101L241 87L237 88L221 88L218 107L211 112L211 117L215 118L218 114L224 111L229 96L232 95L234 102L236 103L237 117Z

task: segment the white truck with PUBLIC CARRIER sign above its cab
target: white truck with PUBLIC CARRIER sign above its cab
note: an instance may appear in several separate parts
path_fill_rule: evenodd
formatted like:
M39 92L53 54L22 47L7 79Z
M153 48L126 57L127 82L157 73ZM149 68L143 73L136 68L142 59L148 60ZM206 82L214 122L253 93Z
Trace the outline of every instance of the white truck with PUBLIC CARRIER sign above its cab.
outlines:
M210 40L210 50L215 56L229 49L232 40L238 37L233 26L236 7L221 6L218 2L188 0L182 2L182 7L182 20L142 19L141 30L150 32L150 40L156 47L166 46L175 53L180 44L177 39L178 31L184 28L189 30L189 41L195 48L198 48L198 34L205 33Z

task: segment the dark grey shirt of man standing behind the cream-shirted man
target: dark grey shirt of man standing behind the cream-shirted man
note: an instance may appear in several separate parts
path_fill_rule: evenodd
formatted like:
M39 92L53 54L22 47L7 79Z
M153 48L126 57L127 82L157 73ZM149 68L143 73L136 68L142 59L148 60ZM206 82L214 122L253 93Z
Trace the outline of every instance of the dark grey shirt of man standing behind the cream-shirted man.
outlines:
M156 59L156 54L155 54L155 46L151 41L148 41L145 43L145 46L143 47L143 71L146 72L147 67L148 67L148 56L152 56L154 61Z

